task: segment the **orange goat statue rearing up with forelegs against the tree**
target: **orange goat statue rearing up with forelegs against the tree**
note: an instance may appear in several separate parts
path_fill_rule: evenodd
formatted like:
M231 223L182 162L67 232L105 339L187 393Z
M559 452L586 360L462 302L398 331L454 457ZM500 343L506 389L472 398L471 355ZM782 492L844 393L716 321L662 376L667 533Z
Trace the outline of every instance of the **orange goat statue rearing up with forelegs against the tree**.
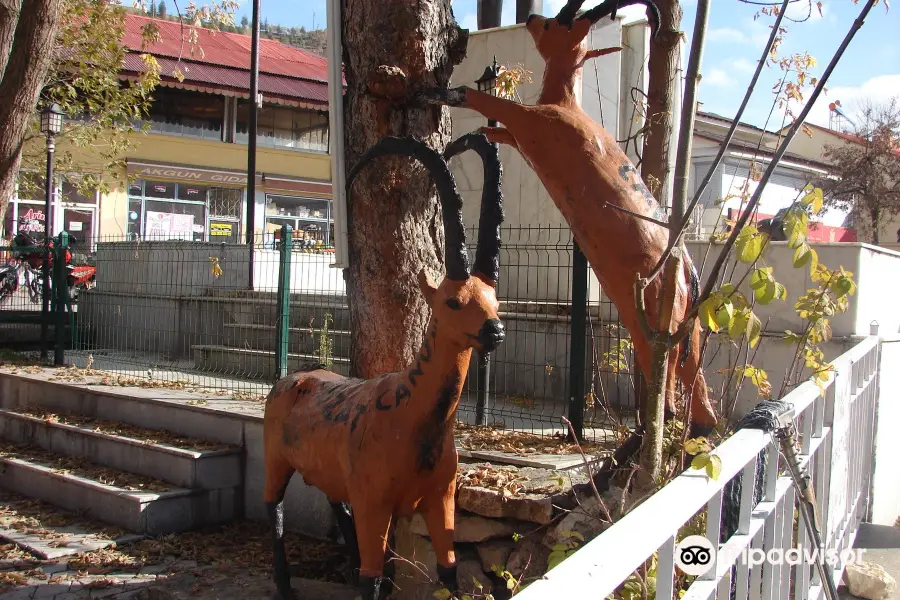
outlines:
M650 376L650 343L639 327L635 277L646 277L668 242L661 210L616 140L578 105L575 86L585 61L621 48L588 50L584 39L594 23L615 16L619 6L644 4L656 29L659 10L650 0L606 0L577 15L584 0L569 0L555 18L531 15L526 28L545 62L536 105L523 105L468 87L425 90L418 101L469 108L504 127L482 127L492 142L516 148L540 177L590 261L603 291L615 303L631 334L638 365ZM699 278L687 252L678 281L673 319L682 320L698 295ZM645 291L648 320L656 323L662 278ZM676 377L691 394L692 435L708 435L716 424L700 365L697 323L681 349L670 353L666 413L675 414ZM680 358L680 360L679 360Z

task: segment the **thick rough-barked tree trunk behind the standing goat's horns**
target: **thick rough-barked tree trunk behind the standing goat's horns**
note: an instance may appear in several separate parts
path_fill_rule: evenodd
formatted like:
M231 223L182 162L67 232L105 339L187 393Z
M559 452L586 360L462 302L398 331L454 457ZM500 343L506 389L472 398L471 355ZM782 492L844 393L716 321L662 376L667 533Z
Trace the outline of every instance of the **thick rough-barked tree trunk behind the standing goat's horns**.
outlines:
M403 100L423 86L446 88L465 56L467 36L450 0L344 0L343 38L348 167L385 136L413 136L443 150L449 109L409 108ZM428 173L409 158L364 169L347 204L351 370L373 377L415 357L430 313L416 276L425 268L443 277L443 220Z

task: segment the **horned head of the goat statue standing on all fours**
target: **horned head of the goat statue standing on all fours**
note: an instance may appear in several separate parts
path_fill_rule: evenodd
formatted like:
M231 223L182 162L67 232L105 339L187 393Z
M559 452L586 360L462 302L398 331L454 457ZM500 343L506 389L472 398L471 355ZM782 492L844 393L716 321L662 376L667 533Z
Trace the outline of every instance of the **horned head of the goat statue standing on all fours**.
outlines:
M476 151L482 159L484 186L478 224L475 264L469 269L462 197L447 164L466 150ZM503 221L502 167L497 147L483 134L466 134L447 146L444 156L424 142L412 138L384 138L370 148L347 176L347 186L366 162L376 156L401 154L421 162L437 186L444 217L444 262L447 275L435 285L425 270L419 272L419 288L431 307L432 317L440 323L439 339L459 349L475 348L491 352L503 341L496 285L500 270L500 224ZM439 342L444 343L444 342Z

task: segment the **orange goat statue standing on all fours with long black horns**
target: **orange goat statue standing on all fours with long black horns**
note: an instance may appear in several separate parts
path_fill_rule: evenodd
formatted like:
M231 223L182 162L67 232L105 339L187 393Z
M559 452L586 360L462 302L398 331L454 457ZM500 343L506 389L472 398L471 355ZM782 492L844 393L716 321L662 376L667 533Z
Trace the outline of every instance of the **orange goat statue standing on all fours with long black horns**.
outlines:
M481 155L485 178L471 274L462 198L447 165L464 150ZM282 600L295 598L283 539L283 499L295 471L325 493L351 553L358 548L363 600L379 597L392 518L417 510L428 526L440 580L456 589L456 409L472 349L491 352L504 338L495 290L503 220L502 168L497 147L481 134L454 141L444 156L423 142L385 138L348 174L348 188L366 163L389 154L417 159L435 180L443 208L447 276L435 286L424 269L419 273L432 313L418 359L406 371L368 380L325 370L294 373L269 393L264 417L265 502L274 530L274 579Z

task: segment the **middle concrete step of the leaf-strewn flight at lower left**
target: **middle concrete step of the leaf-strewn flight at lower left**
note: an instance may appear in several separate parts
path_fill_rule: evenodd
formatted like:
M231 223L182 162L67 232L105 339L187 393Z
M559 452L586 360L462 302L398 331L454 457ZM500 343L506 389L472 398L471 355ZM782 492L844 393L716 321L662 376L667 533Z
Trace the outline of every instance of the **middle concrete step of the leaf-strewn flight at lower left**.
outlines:
M116 435L108 431L123 429L121 424L52 413L41 418L35 415L42 411L29 412L0 409L0 439L83 457L178 487L214 490L241 485L239 448L189 439L174 440L180 442L176 446L157 441L174 437L166 432L124 427L127 434Z

